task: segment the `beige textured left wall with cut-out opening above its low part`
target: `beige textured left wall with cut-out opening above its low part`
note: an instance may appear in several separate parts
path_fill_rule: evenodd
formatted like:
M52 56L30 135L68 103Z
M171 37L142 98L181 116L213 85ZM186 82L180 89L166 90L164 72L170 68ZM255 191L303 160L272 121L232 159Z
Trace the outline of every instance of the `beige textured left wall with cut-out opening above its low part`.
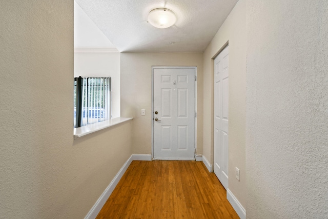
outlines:
M73 1L0 2L0 217L83 218L132 121L73 140Z

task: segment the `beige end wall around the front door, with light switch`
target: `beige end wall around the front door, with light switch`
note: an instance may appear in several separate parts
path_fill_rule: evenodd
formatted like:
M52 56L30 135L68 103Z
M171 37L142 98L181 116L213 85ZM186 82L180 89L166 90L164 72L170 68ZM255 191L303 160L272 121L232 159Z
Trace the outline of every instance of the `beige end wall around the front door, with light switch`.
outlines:
M202 53L121 53L121 116L134 117L133 153L152 153L152 66L197 66L197 153L202 154ZM141 115L146 109L146 115Z

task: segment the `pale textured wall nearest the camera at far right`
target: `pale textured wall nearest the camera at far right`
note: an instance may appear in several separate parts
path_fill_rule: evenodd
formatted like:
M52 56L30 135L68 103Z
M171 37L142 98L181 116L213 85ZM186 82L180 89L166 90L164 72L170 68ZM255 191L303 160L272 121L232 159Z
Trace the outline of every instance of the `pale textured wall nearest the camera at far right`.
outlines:
M248 3L247 217L328 218L328 2Z

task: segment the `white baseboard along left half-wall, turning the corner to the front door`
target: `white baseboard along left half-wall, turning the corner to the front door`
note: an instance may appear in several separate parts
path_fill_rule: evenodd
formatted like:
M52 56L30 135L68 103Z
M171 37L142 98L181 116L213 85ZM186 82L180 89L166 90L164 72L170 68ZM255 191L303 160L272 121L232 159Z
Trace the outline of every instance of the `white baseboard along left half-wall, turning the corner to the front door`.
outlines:
M130 166L132 161L151 161L152 155L151 154L132 154L127 162L122 166L122 168L118 171L118 173L113 178L112 182L108 185L105 189L103 194L100 195L96 203L92 206L89 213L86 215L85 219L94 219L98 215L99 211L105 205L106 201L108 200L109 196L114 191L116 185L120 181L123 174L127 171L128 167Z

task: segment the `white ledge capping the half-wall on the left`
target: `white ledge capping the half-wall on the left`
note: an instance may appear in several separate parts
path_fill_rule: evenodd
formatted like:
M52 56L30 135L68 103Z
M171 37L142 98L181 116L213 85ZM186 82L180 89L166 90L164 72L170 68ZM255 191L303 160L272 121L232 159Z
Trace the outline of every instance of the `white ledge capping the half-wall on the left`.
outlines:
M115 126L115 125L120 124L120 123L124 123L124 122L132 120L132 119L133 118L117 117L117 118L112 118L111 120L107 120L107 121L104 121L104 122L74 128L74 139L77 139L79 137L83 137L87 134L91 134L91 133L96 132L96 131L106 129L108 127Z

